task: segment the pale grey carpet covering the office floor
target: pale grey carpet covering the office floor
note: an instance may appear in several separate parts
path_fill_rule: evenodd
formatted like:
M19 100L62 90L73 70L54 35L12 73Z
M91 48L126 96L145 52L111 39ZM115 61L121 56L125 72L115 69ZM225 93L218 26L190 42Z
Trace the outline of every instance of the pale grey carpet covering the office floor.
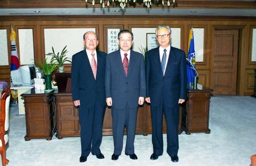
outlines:
M172 163L166 153L166 135L165 152L155 161L149 159L152 153L151 135L136 135L137 160L131 160L123 151L119 160L112 161L113 138L104 136L101 151L105 159L89 155L85 163L80 163L80 137L59 140L53 136L50 141L25 141L25 116L18 116L17 107L11 107L8 165L249 165L250 156L256 154L256 98L217 96L210 101L211 133L182 133L179 136L178 163Z

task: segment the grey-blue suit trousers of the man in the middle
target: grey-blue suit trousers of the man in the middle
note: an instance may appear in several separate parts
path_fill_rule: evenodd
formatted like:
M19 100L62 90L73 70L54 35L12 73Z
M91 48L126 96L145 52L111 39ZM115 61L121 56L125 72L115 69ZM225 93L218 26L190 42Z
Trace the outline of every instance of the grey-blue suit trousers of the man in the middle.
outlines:
M121 155L123 149L124 127L126 126L127 139L125 153L134 154L134 138L137 119L137 108L111 109L113 122L114 154Z

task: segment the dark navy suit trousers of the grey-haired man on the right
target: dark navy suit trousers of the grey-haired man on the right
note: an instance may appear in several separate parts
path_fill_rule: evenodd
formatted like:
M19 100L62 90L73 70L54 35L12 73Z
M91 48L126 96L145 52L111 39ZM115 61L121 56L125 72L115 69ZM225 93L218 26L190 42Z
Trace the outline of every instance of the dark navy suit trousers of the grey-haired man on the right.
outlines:
M150 107L152 121L152 144L153 153L158 155L163 154L163 114L166 120L167 130L167 153L169 156L178 155L179 150L179 114L180 107L168 108L163 105L159 107Z

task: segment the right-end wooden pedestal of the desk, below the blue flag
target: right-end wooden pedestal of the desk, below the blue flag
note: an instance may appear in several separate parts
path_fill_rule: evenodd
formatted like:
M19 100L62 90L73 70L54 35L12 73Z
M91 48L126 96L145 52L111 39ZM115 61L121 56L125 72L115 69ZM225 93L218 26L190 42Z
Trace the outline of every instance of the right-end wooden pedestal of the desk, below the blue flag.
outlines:
M186 134L210 133L209 107L212 90L188 90L186 105L182 107L182 130Z

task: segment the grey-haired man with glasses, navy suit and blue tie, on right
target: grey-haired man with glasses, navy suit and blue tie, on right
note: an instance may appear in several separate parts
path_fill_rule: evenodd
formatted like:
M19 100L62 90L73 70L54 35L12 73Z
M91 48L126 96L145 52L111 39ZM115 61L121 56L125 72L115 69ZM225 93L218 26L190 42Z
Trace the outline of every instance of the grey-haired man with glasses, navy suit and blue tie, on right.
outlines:
M186 55L171 47L171 29L159 26L155 35L160 47L146 53L146 85L152 121L153 154L155 160L163 154L163 114L167 128L167 153L172 162L178 162L179 104L186 99Z

